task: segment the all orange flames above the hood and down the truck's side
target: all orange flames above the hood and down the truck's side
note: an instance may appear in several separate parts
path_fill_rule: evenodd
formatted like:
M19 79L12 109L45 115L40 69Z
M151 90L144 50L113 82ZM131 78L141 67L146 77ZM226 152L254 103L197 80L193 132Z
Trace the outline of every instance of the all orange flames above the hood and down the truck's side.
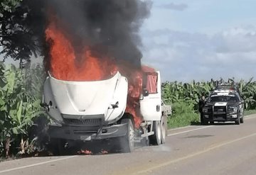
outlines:
M127 62L117 64L110 57L94 57L89 46L82 52L82 62L75 58L75 50L62 29L53 19L46 29L46 41L50 44L50 73L56 79L67 81L97 81L109 79L119 71L127 77L129 91L126 112L134 117L139 128L142 117L139 112L139 96L142 92L142 72L134 69Z

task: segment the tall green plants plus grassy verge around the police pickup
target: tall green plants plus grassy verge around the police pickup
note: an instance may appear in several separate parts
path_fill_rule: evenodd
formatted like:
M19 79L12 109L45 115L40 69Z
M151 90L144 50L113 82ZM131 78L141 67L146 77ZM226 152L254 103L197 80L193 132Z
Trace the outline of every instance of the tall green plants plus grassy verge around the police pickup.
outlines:
M169 118L169 128L176 128L186 125L198 125L198 101L202 95L208 96L210 91L223 79L207 82L193 81L191 84L182 82L166 82L162 84L162 96L164 102L171 104L173 114ZM238 87L242 98L245 100L245 115L256 113L256 81L228 79L229 84L235 84Z

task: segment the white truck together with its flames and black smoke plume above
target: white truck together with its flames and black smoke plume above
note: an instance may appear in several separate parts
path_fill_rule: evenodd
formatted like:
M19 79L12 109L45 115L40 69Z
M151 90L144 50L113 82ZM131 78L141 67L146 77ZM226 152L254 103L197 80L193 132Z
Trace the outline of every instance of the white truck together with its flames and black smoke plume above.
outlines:
M141 65L137 48L149 2L46 1L42 105L58 147L113 139L132 152L134 142L164 144L171 106L161 99L160 72Z

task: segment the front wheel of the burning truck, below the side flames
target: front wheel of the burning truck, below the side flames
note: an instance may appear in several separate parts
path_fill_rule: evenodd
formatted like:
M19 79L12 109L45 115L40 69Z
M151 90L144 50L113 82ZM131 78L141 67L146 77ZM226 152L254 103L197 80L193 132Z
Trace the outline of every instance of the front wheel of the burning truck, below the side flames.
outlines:
M121 137L120 145L124 152L132 152L134 150L134 125L130 118L124 118L121 123L127 123L127 134Z

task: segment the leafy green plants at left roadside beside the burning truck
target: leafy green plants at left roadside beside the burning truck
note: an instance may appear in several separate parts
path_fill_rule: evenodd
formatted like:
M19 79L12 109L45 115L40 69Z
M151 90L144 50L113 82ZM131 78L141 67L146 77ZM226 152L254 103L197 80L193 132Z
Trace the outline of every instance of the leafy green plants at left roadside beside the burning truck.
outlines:
M28 131L43 113L40 106L43 69L0 64L0 157L31 152Z

